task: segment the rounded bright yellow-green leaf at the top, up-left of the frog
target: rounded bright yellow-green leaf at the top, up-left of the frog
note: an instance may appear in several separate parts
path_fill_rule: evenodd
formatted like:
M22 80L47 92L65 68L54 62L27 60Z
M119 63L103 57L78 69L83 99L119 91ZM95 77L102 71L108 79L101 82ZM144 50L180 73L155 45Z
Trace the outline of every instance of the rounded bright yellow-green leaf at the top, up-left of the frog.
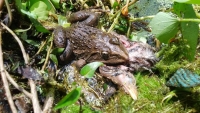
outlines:
M36 15L38 20L46 20L48 19L47 5L43 1L35 2L29 9L29 11Z

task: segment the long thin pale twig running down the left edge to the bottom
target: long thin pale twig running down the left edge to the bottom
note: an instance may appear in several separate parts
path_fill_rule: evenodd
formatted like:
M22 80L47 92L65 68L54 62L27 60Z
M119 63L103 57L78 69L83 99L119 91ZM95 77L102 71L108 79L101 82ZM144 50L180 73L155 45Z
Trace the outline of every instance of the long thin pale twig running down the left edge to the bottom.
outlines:
M3 81L6 97L8 99L10 108L11 108L13 113L17 113L17 109L16 109L16 107L14 105L14 102L12 100L12 95L10 93L8 81L6 79L6 73L5 73L4 65L3 65L3 53L2 53L1 43L2 43L2 29L0 29L0 69L1 69L1 78L2 78L2 81Z

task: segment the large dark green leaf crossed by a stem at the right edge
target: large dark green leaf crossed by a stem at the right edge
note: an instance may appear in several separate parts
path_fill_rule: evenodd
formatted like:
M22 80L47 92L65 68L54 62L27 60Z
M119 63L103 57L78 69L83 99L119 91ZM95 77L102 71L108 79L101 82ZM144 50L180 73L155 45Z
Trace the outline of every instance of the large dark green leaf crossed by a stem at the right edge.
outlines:
M181 18L197 18L191 4L174 3L174 11ZM181 22L180 27L182 36L189 45L189 48L185 48L184 54L189 60L194 60L199 34L198 23Z

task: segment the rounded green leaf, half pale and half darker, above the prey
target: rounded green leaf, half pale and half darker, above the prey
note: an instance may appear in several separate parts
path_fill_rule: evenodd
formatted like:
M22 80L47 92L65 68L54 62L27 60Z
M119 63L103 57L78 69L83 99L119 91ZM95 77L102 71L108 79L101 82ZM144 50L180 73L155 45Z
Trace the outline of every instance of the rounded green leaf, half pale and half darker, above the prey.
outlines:
M156 38L163 43L168 43L173 38L179 29L179 21L172 15L164 12L159 12L150 22L152 33Z

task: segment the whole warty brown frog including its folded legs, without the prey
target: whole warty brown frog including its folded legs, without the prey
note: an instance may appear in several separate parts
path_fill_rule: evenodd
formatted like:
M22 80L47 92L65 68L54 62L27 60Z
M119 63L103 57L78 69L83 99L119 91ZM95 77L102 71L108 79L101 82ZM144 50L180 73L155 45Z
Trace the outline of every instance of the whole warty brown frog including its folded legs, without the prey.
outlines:
M69 18L71 22L78 20L81 22L72 24L66 29L57 27L54 30L54 44L57 47L65 47L65 51L60 55L61 61L66 62L71 54L86 62L118 64L128 61L127 50L118 37L91 27L97 23L93 20L97 17L94 13L81 12L74 13Z

